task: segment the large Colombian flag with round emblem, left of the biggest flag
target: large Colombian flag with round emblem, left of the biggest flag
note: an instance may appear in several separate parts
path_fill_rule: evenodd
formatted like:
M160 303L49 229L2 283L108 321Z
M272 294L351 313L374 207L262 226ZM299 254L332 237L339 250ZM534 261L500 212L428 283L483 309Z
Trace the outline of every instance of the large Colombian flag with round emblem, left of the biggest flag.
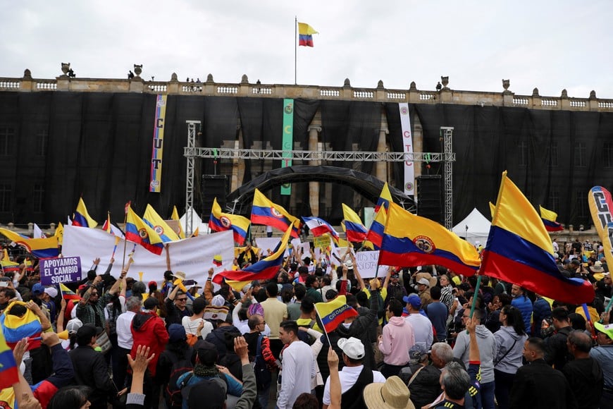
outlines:
M458 274L472 276L480 263L471 243L435 221L415 216L390 203L379 264L402 267L439 264Z

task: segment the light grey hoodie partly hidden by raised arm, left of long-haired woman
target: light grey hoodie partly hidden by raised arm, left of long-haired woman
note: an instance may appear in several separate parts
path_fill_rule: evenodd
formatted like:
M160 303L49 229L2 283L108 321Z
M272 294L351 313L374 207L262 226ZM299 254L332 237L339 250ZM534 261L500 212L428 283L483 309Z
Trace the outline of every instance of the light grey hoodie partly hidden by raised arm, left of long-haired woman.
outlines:
M481 383L494 381L494 357L496 356L496 338L485 325L479 324L476 328L479 357L481 358ZM461 331L453 347L454 358L459 358L469 367L469 334ZM518 341L519 342L519 341ZM522 344L523 346L523 344Z

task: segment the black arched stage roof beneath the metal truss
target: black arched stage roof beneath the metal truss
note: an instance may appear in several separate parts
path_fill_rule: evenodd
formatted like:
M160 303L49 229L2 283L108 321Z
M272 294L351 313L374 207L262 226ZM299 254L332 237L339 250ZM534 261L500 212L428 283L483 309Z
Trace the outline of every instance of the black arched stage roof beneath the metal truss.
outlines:
M337 166L288 166L262 173L249 183L242 185L226 197L227 203L228 206L234 206L233 202L236 201L235 213L244 213L244 210L247 210L252 205L256 188L261 190L261 192L266 192L285 183L298 182L323 182L346 185L373 203L377 202L381 189L383 189L385 184L368 173ZM411 197L405 195L402 190L390 185L388 186L395 203L400 203L404 209L415 212L416 205Z

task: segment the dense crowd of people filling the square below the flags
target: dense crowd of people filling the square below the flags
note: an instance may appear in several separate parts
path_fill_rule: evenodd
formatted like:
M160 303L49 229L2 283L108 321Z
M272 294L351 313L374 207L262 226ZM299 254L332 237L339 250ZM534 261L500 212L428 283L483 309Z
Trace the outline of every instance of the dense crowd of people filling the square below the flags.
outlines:
M578 243L578 242L577 242ZM562 247L562 248L560 248ZM0 326L19 367L6 408L613 408L612 281L598 243L554 244L589 280L568 305L488 276L292 252L266 282L135 281L99 259L71 293L37 264L0 277ZM596 249L596 250L594 250ZM247 246L237 268L257 262ZM188 288L189 287L189 288ZM544 293L547 293L543 289ZM357 312L326 333L317 306Z

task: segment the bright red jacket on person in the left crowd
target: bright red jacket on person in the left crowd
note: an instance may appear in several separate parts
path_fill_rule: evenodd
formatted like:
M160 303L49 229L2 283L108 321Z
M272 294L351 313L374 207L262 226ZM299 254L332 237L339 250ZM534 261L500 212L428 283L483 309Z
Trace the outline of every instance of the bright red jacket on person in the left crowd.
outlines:
M149 362L149 372L151 372L151 376L155 376L158 358L168 343L168 331L166 331L164 322L154 312L139 312L132 319L132 326L130 326L130 329L132 330L132 339L134 340L130 355L132 355L132 358L135 358L136 350L140 345L151 348L149 350L149 355L151 355L151 353L155 353L156 355L154 359Z

